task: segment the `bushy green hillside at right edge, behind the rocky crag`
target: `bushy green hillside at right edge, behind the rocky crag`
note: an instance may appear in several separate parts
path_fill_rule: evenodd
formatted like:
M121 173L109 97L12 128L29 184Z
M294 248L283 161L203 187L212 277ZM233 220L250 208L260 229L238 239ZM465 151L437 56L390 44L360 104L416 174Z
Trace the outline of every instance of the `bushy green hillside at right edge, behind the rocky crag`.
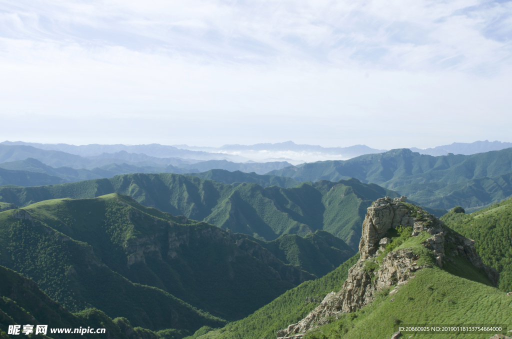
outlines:
M457 213L459 212L459 213ZM472 214L454 209L441 218L460 234L476 241L483 262L500 273L498 287L512 290L512 199Z

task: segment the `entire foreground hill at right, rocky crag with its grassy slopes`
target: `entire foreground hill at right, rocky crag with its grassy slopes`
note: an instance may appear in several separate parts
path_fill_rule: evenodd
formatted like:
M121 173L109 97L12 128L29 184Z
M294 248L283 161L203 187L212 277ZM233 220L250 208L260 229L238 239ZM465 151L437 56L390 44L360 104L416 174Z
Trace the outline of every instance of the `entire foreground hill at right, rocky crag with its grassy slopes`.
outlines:
M504 209L504 206L496 208ZM391 209L392 217L388 214ZM375 217L379 215L381 218L377 220ZM412 226L403 228L398 223L413 225L414 234L411 234ZM305 339L385 339L397 331L398 325L503 326L493 332L439 334L439 337L476 339L504 334L512 328L512 300L493 286L495 272L482 266L470 240L421 208L396 200L376 201L368 210L363 228L360 245L363 255L345 271L343 278L348 278L343 285L333 279L336 285L331 287L325 281L342 271L338 268L322 279L286 292L246 319L222 329L203 328L202 332L196 332L194 339L274 339L278 329L278 337L304 333ZM380 240L385 238L388 245L379 249ZM342 267L354 264L357 259ZM337 278L342 278L341 274ZM290 298L293 292L314 285L327 285L327 291L339 292L329 293L319 305L309 305L310 298L304 296L297 298L301 304L294 304ZM289 309L279 303L284 300L290 304ZM311 312L307 316L281 323L288 314L296 315L295 310L301 312L308 307ZM280 323L278 326L274 326L274 319ZM401 337L434 337L432 332L402 331L401 334Z

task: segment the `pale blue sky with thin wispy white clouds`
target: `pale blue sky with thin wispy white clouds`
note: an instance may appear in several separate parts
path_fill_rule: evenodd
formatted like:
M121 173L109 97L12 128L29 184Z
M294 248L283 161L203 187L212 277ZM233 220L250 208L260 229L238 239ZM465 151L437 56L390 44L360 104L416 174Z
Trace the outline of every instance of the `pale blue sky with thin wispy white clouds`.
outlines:
M0 0L0 139L512 142L510 1Z

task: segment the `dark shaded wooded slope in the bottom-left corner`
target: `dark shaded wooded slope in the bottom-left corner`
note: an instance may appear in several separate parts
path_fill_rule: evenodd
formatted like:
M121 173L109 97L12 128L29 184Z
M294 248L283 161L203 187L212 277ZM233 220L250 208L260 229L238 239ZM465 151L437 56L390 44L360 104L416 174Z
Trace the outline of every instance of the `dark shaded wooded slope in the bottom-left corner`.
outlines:
M35 282L0 266L0 337L7 335L9 325L48 325L47 336L54 339L66 338L70 334L51 334L52 328L104 328L105 334L84 333L84 338L109 337L115 339L160 339L160 335L143 328L133 328L126 320L112 320L97 309L70 313L59 303L48 298ZM121 325L121 326L119 326ZM126 331L127 330L127 331ZM132 332L132 336L125 333ZM23 333L22 333L23 335ZM33 334L32 334L33 335ZM77 335L77 334L73 334ZM12 335L11 337L18 337ZM42 338L42 335L31 336Z

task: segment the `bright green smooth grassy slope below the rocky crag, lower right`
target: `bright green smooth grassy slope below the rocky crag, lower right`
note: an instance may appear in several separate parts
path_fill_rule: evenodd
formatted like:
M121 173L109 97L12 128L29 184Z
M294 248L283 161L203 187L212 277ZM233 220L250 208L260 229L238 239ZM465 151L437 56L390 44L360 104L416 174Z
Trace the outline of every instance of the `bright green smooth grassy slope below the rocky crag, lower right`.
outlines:
M465 267L471 269L467 261ZM477 274L481 272L477 272ZM481 279L486 279L481 276ZM419 271L393 296L383 292L376 300L308 333L305 339L389 338L397 325L509 325L512 300L500 290L451 274L437 267ZM510 329L504 328L502 333ZM493 334L496 334L494 332ZM490 337L493 334L438 334L443 338ZM404 333L402 337L432 338L432 333Z

